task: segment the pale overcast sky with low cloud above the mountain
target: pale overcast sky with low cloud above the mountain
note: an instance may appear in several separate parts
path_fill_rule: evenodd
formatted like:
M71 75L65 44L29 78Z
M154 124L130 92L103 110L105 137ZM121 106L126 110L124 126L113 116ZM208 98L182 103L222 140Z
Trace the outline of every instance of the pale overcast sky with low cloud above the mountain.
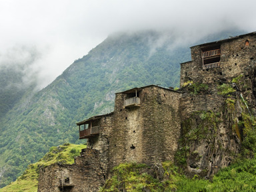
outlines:
M27 80L37 74L46 86L111 33L156 29L199 39L231 27L253 32L255 7L255 0L0 0L0 67L27 63Z

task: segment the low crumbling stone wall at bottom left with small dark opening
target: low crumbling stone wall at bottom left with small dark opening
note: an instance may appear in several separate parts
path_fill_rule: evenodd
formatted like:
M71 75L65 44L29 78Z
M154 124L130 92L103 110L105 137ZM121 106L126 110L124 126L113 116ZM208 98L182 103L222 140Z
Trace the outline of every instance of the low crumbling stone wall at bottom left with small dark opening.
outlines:
M83 149L73 165L53 164L40 169L39 192L95 192L104 183L99 152Z

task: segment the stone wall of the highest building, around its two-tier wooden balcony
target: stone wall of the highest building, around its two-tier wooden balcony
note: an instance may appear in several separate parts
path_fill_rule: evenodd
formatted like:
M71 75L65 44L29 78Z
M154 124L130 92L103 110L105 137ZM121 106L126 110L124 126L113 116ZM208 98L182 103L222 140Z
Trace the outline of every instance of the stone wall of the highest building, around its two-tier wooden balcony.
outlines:
M249 45L245 46L245 41ZM243 35L241 37L218 41L221 45L221 60L219 68L204 69L201 57L202 48L212 46L214 43L197 45L191 48L191 62L181 64L181 86L185 82L218 83L230 82L232 78L245 72L251 64L256 62L256 35Z

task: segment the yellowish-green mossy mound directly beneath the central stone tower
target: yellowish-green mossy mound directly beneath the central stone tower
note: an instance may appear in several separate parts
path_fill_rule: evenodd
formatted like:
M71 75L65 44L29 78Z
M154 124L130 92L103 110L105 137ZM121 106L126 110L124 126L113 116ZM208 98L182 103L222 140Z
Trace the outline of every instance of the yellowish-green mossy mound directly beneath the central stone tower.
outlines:
M175 185L177 167L167 161L163 163L163 169L164 179L159 181L152 174L147 173L153 171L148 165L122 163L113 168L113 176L106 181L100 191L173 191L177 187Z

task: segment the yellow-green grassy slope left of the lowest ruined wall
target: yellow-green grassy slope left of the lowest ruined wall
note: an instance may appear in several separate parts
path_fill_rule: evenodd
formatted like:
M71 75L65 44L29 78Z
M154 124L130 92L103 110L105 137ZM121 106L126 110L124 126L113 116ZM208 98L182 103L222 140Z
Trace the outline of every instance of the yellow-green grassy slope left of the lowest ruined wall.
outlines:
M78 156L81 149L84 148L86 148L86 145L75 144L63 144L57 147L51 147L43 158L37 161L37 163L29 165L16 181L0 189L0 192L36 192L40 167L45 167L53 163L73 164L74 157Z

